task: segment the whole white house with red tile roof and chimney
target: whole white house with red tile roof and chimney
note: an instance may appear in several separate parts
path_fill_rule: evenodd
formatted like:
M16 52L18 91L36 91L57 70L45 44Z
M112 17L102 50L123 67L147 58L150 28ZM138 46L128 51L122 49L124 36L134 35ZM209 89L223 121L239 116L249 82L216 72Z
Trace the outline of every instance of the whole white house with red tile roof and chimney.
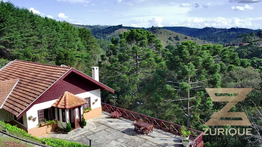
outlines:
M98 67L92 78L70 67L14 60L0 69L0 120L40 136L55 127L80 127L85 119L101 115L102 90L114 90L99 82ZM39 126L45 120L57 124Z

